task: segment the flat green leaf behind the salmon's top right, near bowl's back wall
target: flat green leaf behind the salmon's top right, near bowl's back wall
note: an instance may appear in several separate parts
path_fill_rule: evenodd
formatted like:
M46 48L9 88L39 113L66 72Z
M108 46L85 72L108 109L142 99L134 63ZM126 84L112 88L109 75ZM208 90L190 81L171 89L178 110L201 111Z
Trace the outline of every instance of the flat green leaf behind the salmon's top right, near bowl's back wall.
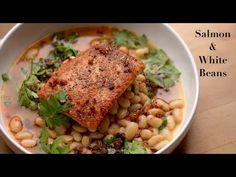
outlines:
M148 46L148 39L145 34L137 36L127 30L116 30L114 31L114 36L115 44L125 46L129 49Z

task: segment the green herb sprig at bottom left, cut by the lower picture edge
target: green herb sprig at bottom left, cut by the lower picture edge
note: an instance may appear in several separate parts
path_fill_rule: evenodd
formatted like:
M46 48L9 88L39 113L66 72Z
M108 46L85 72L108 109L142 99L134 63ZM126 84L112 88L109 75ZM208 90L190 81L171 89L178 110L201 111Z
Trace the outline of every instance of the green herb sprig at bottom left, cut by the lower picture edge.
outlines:
M49 131L48 128L43 127L40 134L41 149L49 154L67 154L69 147L62 144L62 137L57 137L52 144L48 143Z

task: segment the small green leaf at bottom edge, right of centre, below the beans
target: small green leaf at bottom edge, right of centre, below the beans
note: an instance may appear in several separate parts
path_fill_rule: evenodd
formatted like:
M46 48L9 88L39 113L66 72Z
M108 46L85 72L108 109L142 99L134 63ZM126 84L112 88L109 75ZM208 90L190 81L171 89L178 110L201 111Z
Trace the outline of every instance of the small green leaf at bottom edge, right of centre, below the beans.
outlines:
M147 154L147 150L141 141L133 140L128 142L126 140L124 143L124 154Z

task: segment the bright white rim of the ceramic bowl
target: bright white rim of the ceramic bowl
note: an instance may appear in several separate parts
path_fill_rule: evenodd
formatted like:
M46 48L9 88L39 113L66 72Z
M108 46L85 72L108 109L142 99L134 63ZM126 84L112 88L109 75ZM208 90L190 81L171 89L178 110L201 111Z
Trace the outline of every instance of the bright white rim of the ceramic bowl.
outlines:
M193 121L193 115L196 111L196 107L198 104L198 100L199 100L199 77L198 77L198 71L197 71L197 66L194 60L194 57L192 56L192 53L190 52L190 49L188 48L187 44L185 43L185 41L180 37L180 35L169 25L166 23L160 23L162 25L164 25L166 27L167 30L169 30L170 33L172 33L176 39L178 40L178 42L182 45L182 47L184 48L185 52L188 55L188 58L190 59L190 63L192 65L193 68L193 73L194 73L194 81L196 84L196 92L195 92L195 100L192 103L192 109L190 112L190 115L188 116L189 119L187 120L187 122L182 125L180 127L180 129L177 132L177 135L174 136L174 138L168 143L168 145L166 145L165 147L163 147L161 150L159 150L158 152L156 152L155 154L162 154L164 153L166 150L168 150L168 148L170 148L171 146L173 146L175 143L176 146L180 143L180 141L182 140L182 138L185 136L185 134L187 133L192 121ZM0 50L2 49L3 44L5 43L5 41L8 40L8 38L20 27L22 26L23 23L17 23L15 26L13 26L12 29L10 29L7 34L0 40ZM3 140L8 144L8 146L15 151L15 148L17 150L20 150L21 152L25 153L25 154L34 154L32 152L30 152L29 150L27 150L26 148L24 148L23 146L21 146L14 138L13 136L10 135L10 132L8 132L4 125L2 125L0 123L0 132L3 136ZM9 142L7 142L9 141ZM14 148L11 147L11 145L15 146ZM173 148L174 150L174 148ZM15 151L16 152L16 151Z

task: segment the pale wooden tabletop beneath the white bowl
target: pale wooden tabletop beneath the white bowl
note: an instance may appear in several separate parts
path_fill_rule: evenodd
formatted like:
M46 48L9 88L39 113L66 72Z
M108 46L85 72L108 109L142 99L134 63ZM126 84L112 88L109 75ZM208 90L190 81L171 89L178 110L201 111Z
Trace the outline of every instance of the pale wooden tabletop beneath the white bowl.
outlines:
M14 24L0 24L0 38ZM174 153L236 152L236 24L171 24L189 46L198 68L226 71L227 77L201 77L200 98L189 133ZM195 38L195 30L230 32L231 38ZM211 42L216 51L209 51ZM227 58L226 64L203 66L199 55ZM0 139L0 153L12 151Z

